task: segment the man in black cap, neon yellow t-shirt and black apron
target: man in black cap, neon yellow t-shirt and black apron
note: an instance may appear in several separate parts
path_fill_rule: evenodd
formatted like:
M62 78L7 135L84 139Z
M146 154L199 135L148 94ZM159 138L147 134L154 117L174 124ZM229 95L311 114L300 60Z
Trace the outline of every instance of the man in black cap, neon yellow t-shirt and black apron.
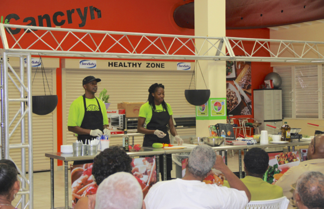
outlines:
M70 106L67 128L84 144L88 139L91 140L101 135L110 136L110 130L107 129L108 116L105 104L95 97L98 90L97 83L100 81L100 78L91 75L85 77L83 79L85 94L74 100Z

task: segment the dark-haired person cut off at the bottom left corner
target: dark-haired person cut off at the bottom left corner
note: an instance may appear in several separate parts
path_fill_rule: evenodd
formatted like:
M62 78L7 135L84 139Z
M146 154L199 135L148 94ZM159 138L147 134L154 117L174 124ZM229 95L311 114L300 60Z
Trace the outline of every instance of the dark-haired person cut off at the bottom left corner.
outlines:
M19 189L18 172L16 167L7 163L0 163L0 206L2 209L14 209L11 202L15 199Z

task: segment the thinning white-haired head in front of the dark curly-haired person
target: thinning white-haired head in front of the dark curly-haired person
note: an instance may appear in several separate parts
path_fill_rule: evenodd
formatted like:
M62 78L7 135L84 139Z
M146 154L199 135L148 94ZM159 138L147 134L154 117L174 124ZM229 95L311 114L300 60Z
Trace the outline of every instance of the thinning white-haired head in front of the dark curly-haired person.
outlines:
M136 178L129 173L110 175L99 185L95 209L140 209L143 192Z

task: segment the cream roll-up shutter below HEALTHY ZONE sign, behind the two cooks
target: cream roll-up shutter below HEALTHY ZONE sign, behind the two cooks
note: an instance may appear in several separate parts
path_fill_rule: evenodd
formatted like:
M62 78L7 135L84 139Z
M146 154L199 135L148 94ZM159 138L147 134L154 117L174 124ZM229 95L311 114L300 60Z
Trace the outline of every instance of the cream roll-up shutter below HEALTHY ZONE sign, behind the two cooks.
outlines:
M65 75L64 75L65 74ZM76 140L73 133L67 130L67 117L71 103L85 93L82 80L88 75L100 78L98 83L98 97L105 88L108 91L109 109L117 109L120 102L146 102L148 88L153 83L162 83L165 86L165 101L172 107L174 116L195 115L195 107L190 105L185 97L184 90L188 89L192 71L131 71L131 70L63 70L63 91L65 91L65 108L63 107L63 143L71 144ZM64 115L65 114L65 115ZM64 119L63 119L64 120ZM65 126L65 127L64 127ZM178 130L178 134L195 135L195 129ZM122 144L122 138L111 138L110 145ZM186 141L185 141L186 142ZM132 143L132 142L131 142ZM135 144L143 143L143 137L135 137Z

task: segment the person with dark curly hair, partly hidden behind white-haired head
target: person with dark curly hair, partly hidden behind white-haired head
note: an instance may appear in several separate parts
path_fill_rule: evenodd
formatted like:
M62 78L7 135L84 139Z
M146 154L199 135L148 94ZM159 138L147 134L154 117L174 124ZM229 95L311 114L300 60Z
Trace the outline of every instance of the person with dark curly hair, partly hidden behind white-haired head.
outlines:
M92 167L92 175L95 177L96 183L100 183L112 174L117 172L131 173L132 158L118 147L107 148L100 152L94 159ZM94 209L96 204L96 194L87 195L79 199L74 209Z

